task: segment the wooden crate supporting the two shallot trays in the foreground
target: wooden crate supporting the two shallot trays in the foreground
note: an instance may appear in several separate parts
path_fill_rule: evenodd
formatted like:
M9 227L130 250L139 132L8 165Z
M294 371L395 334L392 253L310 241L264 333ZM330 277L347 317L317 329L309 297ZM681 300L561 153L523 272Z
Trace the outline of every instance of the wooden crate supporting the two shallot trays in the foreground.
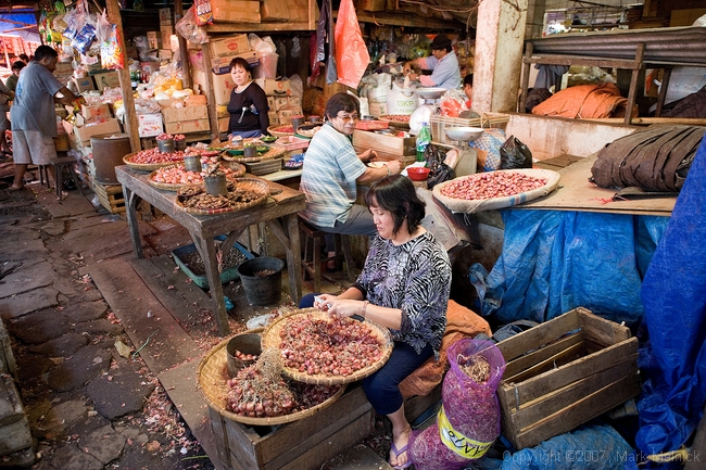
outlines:
M230 470L319 468L375 425L375 412L360 385L349 385L336 403L310 417L274 428L245 425L209 409L218 458Z

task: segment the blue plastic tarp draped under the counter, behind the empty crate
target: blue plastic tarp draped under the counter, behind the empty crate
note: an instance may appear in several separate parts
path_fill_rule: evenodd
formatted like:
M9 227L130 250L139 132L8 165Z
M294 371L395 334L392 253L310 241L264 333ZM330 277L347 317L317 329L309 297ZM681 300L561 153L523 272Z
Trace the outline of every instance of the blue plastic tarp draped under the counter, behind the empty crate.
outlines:
M628 326L643 315L642 278L668 217L503 211L503 251L470 267L483 316L543 322L576 307Z

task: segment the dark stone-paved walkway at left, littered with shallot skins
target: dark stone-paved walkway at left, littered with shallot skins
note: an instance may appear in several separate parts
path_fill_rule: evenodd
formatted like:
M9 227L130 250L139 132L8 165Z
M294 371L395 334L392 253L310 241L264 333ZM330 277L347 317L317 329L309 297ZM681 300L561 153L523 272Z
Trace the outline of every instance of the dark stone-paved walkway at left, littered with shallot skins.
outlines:
M134 261L127 223L102 208L86 189L85 196L68 191L60 202L37 182L21 191L3 186L0 182L0 317L12 340L36 458L0 458L0 469L18 463L39 470L219 469L157 379L152 363L161 359L135 355L140 345L130 341L130 335L136 338L131 327L125 331L129 321L111 310L114 301L109 304L88 274ZM141 215L143 251L155 264L191 242L168 218L153 217L149 211ZM237 295L231 292L226 294ZM121 296L119 291L111 295ZM131 296L136 298L147 301ZM240 313L242 300L234 302ZM114 308L121 308L119 302ZM253 308L245 318L263 312ZM222 340L210 313L176 319L189 334L198 334L202 351ZM121 355L123 345L128 353ZM341 455L323 468L390 468L370 446L351 452L355 459Z

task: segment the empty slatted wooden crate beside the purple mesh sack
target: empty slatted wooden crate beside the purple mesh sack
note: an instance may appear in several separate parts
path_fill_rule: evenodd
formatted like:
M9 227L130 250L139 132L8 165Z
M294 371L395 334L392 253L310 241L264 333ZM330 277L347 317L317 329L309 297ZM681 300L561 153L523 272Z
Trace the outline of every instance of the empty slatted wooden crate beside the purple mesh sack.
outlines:
M640 394L638 340L579 307L497 343L503 435L532 447Z

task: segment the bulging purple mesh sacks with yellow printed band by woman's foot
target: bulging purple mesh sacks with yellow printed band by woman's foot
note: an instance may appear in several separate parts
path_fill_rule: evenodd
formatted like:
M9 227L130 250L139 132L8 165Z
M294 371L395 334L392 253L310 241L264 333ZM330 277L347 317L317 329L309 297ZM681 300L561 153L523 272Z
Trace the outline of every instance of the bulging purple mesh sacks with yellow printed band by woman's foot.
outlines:
M441 389L437 423L413 431L409 458L417 470L455 470L481 458L500 435L495 395L505 371L502 353L490 341L463 339L449 347L451 369Z

